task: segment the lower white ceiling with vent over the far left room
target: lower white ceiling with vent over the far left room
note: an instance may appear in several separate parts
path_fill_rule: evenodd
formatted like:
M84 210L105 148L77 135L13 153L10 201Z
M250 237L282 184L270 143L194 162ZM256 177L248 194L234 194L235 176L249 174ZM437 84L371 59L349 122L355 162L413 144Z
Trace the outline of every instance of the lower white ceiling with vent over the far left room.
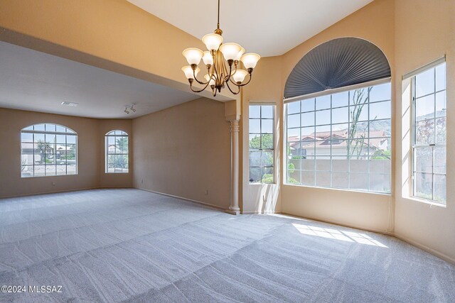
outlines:
M0 41L0 107L132 119L198 97ZM62 101L79 105L63 106ZM130 104L137 104L137 111L127 115Z

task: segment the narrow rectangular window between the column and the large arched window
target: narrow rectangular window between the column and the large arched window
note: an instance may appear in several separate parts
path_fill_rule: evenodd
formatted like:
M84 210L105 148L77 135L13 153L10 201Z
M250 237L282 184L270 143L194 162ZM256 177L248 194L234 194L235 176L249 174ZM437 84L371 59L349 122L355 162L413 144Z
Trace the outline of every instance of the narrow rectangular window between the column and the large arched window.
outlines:
M274 105L250 105L250 182L274 183Z

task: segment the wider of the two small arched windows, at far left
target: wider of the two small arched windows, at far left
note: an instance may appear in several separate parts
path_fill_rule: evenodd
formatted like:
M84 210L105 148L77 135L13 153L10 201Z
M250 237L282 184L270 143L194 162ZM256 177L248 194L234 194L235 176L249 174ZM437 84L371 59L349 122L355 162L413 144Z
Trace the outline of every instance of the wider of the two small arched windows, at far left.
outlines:
M21 130L21 177L77 175L77 133L53 123Z

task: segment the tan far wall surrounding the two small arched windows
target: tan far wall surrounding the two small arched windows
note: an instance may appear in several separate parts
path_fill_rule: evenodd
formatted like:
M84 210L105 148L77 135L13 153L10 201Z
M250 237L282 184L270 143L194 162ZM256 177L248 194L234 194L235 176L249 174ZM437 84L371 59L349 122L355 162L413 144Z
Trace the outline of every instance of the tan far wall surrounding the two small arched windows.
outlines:
M57 123L77 133L77 175L21 178L21 129ZM0 108L0 197L98 187L131 187L132 172L106 175L104 136L108 130L131 133L131 120L97 120ZM131 145L131 143L130 143Z

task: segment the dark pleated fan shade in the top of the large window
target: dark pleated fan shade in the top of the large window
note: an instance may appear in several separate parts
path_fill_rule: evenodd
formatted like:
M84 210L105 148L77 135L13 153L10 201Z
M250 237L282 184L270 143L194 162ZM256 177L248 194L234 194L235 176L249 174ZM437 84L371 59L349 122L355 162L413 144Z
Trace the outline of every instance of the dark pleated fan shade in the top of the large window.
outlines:
M284 87L284 99L390 77L384 53L360 38L338 38L307 53Z

